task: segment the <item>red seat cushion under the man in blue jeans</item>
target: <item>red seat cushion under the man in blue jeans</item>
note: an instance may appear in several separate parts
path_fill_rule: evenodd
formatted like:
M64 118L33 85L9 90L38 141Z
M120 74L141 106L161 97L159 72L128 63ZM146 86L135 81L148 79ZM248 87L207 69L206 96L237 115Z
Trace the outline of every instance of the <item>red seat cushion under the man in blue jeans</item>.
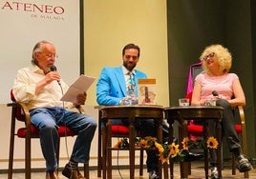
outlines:
M17 136L20 138L26 138L26 134L27 134L26 128L21 128L21 129L18 129L18 131L17 131ZM74 136L75 133L70 128L61 126L58 128L58 135L60 137ZM35 128L34 126L31 126L31 137L32 138L39 137L39 130L37 128Z

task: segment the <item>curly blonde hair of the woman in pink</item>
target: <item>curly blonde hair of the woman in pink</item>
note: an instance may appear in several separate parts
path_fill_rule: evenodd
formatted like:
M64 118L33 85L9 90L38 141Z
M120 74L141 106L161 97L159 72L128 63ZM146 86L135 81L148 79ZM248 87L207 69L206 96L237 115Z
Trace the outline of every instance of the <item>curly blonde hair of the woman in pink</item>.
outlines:
M211 52L214 52L214 54L217 56L217 59L223 72L229 72L232 66L232 55L229 52L229 50L227 50L219 44L208 46L203 50L203 53L200 56L200 60L203 62L203 70L205 70L206 72L209 71L209 69L206 66L204 58Z

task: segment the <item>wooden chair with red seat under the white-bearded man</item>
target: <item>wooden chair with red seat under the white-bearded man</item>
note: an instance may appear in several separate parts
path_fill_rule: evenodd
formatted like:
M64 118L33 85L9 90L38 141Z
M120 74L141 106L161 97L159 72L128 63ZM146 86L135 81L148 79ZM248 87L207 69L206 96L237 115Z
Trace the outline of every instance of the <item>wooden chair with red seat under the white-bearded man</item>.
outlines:
M9 171L8 171L8 179L12 178L13 172L13 151L14 151L14 139L15 135L18 138L25 139L25 178L31 179L32 178L32 169L31 169L31 151L32 151L32 139L37 138L39 139L39 130L36 129L31 124L31 116L29 109L24 103L18 103L15 101L12 91L11 91L11 101L12 103L7 104L8 107L11 107L11 137L10 137L10 153L9 153ZM81 112L82 109L79 109ZM16 120L24 123L25 127L16 129ZM75 133L65 126L60 126L58 129L59 137L66 137L66 136L75 136ZM56 156L57 161L59 161L59 144L60 140L58 141ZM86 179L89 179L89 164L84 164L84 176Z

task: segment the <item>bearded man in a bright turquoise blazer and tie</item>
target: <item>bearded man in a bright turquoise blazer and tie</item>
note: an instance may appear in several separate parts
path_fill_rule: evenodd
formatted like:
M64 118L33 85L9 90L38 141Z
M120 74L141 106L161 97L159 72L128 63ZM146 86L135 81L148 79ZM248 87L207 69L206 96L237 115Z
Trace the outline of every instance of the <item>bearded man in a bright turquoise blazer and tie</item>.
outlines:
M127 97L127 86L129 73L132 72L135 79L135 93L138 96L138 79L147 78L147 75L135 67L139 61L139 47L134 44L126 45L122 50L123 64L117 68L103 68L96 83L96 101L98 105L110 106L121 105ZM121 120L113 120L112 124L128 126L129 124ZM140 130L144 136L157 136L156 124L154 120L139 120L136 129ZM165 136L168 136L168 130ZM149 178L159 178L159 159L156 151L147 150L147 169Z

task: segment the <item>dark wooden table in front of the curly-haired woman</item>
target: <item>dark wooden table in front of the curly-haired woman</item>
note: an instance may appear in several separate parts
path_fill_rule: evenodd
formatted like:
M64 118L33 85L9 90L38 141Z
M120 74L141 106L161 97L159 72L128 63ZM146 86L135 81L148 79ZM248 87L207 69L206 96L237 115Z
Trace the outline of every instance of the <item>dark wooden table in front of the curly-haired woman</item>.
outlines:
M206 123L208 120L214 120L216 122L215 131L216 139L219 142L217 149L217 169L219 172L219 177L222 177L222 129L221 122L223 118L223 108L222 107L205 107L205 106L195 106L195 107L170 107L165 108L165 117L170 126L169 128L169 141L173 140L173 124L176 121L179 123L179 142L180 147L183 137L187 136L187 121L188 120L200 120L203 122L203 139L206 140ZM181 162L181 178L187 178L188 176L188 163ZM171 178L173 178L173 165L170 165ZM208 178L208 150L204 149L204 171L205 178Z

